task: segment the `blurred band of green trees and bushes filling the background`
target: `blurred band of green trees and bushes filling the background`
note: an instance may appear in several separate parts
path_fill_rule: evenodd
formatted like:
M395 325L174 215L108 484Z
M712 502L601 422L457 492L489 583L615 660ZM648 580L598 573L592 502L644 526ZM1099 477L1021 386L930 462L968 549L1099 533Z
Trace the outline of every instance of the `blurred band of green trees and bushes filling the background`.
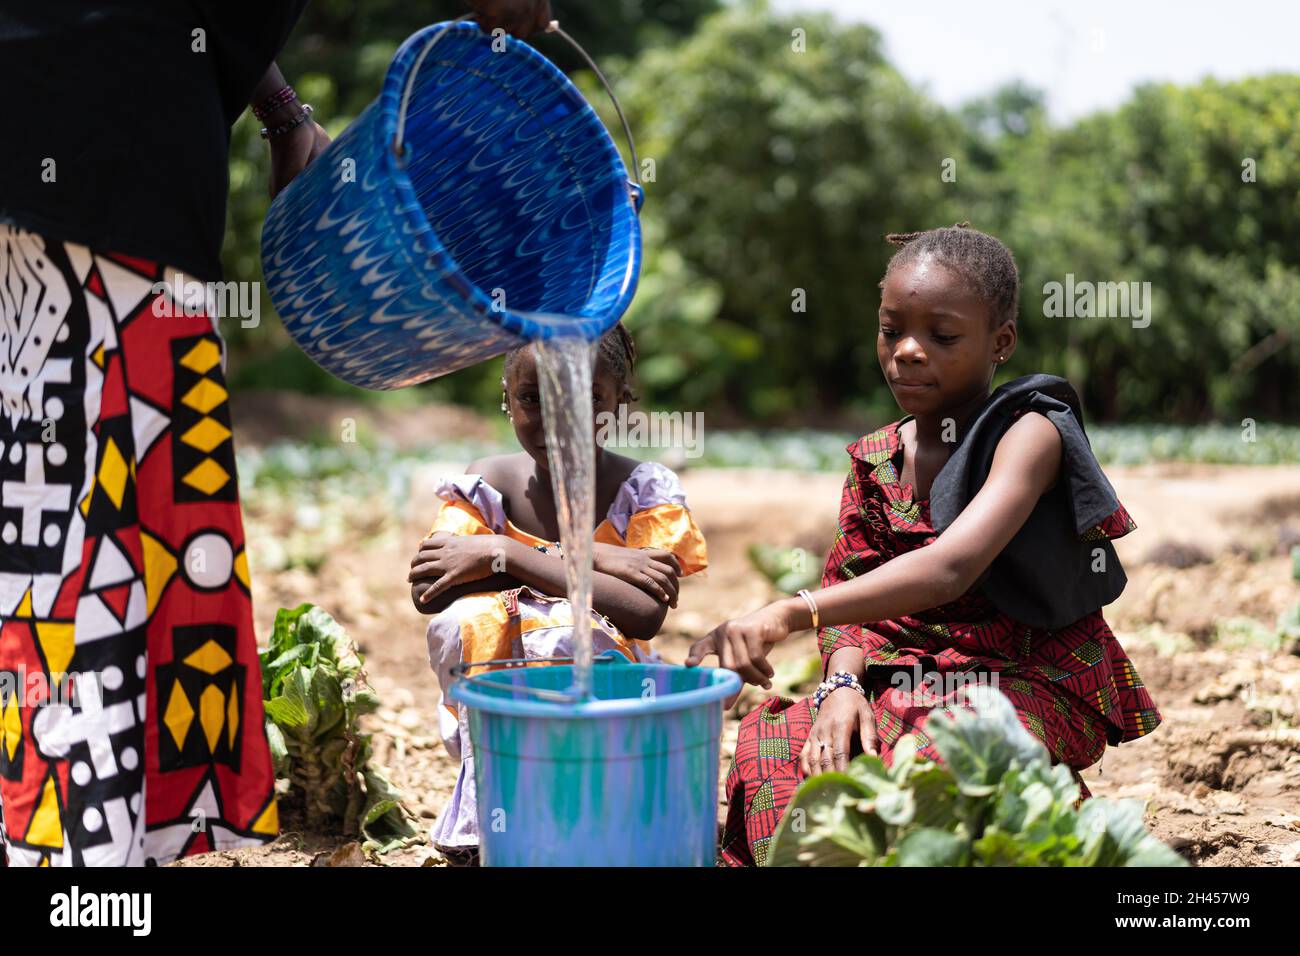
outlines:
M754 0L552 8L654 161L627 316L646 407L706 410L719 427L897 418L875 358L876 284L893 251L883 237L970 220L1010 246L1022 274L1019 346L994 385L1065 375L1092 420L1300 421L1300 74L1144 86L1118 109L1054 126L1041 92L1020 85L944 109L890 66L875 30L829 16ZM464 9L313 0L280 64L337 135L406 36ZM614 120L566 47L537 46ZM246 114L231 147L228 278L261 280L266 165ZM1045 316L1043 286L1067 273L1150 282L1150 325ZM229 329L235 388L372 394L312 364L265 299L263 315L256 329ZM416 394L490 412L498 377L486 363Z

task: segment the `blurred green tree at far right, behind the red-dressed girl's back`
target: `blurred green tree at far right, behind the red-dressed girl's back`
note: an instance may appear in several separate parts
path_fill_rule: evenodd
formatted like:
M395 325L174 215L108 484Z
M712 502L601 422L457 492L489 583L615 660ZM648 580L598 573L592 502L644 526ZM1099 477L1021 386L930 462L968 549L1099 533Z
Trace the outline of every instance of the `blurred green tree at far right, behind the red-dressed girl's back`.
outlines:
M1001 174L1023 278L1022 359L1101 418L1295 419L1300 378L1300 77L1147 86L1040 129ZM1249 181L1253 174L1253 181ZM1150 282L1152 319L1052 319L1043 287Z

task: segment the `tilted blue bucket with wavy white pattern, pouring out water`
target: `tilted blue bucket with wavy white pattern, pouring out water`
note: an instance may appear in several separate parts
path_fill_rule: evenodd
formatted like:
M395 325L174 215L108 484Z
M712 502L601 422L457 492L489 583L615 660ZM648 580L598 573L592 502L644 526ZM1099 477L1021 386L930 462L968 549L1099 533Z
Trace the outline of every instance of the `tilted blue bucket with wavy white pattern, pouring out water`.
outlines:
M641 268L640 196L549 60L437 23L402 44L380 98L272 203L266 289L325 371L413 385L612 328Z

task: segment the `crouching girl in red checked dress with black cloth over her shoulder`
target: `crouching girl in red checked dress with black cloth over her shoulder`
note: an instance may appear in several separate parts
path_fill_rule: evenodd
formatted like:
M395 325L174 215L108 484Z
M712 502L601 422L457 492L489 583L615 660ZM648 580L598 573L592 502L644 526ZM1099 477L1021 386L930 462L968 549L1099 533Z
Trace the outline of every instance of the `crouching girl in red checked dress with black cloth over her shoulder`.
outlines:
M814 628L828 678L819 705L774 697L741 722L722 847L731 865L764 862L805 777L863 750L890 763L906 736L939 760L926 719L963 705L966 683L997 687L1076 777L1108 743L1160 723L1101 614L1124 583L1109 540L1135 524L1088 449L1069 382L1028 376L991 395L1015 350L1019 274L1006 246L966 226L888 237L901 250L880 284L876 351L906 415L848 447L822 589L725 622L690 649L688 666L716 654L771 687L771 646ZM959 475L944 468L950 459ZM944 522L931 514L941 490ZM1080 561L1083 574L1057 572Z

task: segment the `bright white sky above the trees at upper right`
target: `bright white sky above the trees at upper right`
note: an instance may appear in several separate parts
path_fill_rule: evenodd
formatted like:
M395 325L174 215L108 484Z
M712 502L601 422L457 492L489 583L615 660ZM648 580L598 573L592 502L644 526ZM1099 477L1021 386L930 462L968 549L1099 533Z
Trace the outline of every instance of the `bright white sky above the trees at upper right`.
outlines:
M889 61L945 107L1019 77L1046 92L1053 120L1070 121L1148 79L1300 72L1295 0L771 1L876 27Z

